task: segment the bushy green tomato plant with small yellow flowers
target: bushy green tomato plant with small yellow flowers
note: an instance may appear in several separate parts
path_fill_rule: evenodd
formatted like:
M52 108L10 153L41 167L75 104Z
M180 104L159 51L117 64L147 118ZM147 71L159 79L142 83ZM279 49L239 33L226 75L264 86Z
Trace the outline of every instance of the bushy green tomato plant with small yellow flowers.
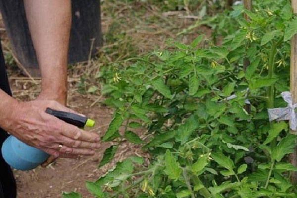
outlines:
M286 106L280 93L289 90L289 40L297 33L297 18L289 0L259 2L254 11L236 7L229 13L238 28L220 46L203 35L189 45L168 41L168 49L101 70L105 103L116 110L102 137L115 144L99 167L123 140L141 144L152 159L148 166L141 157L118 162L87 182L91 193L98 198L297 196L288 179L296 167L287 161L297 137L285 121L269 123L267 114L267 108ZM148 140L137 135L138 128L146 129Z

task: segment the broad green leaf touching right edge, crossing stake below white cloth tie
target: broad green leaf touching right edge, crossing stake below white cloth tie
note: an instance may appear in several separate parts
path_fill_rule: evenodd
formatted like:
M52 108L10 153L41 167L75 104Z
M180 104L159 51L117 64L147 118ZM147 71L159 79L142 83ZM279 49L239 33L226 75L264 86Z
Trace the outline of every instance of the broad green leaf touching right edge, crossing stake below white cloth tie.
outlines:
M273 148L271 157L279 162L286 154L294 152L296 137L296 135L289 134L287 137L283 138L277 146Z

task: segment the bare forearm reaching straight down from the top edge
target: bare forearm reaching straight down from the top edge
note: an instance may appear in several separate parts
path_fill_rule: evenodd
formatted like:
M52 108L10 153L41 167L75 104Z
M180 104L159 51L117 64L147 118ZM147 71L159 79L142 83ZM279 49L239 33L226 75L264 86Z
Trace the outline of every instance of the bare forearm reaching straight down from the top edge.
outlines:
M70 0L24 0L42 76L42 94L66 102Z

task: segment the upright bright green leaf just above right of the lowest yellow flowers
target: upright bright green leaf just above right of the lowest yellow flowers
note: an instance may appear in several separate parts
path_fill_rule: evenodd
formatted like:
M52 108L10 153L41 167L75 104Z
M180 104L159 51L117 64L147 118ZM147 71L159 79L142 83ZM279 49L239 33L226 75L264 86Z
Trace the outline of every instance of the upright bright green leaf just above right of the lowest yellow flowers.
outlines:
M182 169L179 166L179 163L173 157L172 153L169 150L166 150L165 153L165 169L164 172L168 175L169 179L177 180L182 173Z

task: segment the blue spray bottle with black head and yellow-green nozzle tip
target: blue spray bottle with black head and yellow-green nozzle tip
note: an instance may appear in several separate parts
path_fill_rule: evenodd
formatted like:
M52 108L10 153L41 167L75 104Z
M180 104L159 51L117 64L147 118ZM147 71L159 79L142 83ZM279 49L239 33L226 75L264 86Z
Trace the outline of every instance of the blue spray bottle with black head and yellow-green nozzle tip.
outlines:
M86 117L68 113L64 111L57 111L50 108L46 109L46 113L51 114L69 124L75 125L79 128L85 126L93 127L94 121ZM39 166L47 160L49 154L31 147L14 136L10 135L2 145L2 155L6 163L12 168L18 170L31 170Z

